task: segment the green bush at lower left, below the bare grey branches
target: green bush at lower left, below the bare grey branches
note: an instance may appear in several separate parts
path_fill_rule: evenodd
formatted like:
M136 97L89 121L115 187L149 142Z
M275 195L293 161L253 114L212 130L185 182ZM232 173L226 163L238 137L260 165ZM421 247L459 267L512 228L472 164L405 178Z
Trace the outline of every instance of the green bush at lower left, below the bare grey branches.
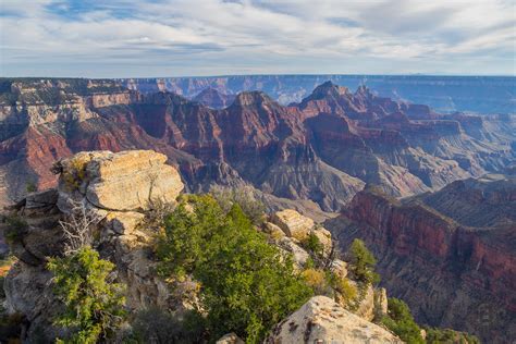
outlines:
M54 323L72 333L59 342L97 343L113 335L123 321L125 304L122 285L107 282L113 268L90 247L49 260L53 292L64 304Z

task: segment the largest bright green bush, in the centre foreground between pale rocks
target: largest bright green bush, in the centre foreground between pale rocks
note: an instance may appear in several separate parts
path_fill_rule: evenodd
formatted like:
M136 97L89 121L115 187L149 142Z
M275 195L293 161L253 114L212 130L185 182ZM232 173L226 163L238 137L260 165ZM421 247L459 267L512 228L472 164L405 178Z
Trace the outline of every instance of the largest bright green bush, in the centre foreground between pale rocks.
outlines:
M186 210L186 202L193 211ZM282 259L237 204L225 213L208 195L177 206L165 221L156 254L165 278L192 273L201 283L211 339L235 332L258 343L311 296L292 260Z

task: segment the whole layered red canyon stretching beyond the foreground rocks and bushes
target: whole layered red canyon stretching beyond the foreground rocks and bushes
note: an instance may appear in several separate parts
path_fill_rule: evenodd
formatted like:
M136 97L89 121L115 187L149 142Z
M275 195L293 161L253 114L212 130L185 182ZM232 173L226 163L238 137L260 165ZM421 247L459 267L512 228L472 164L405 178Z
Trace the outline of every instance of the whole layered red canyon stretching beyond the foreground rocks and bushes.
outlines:
M343 249L363 238L382 285L421 323L514 337L511 100L438 111L310 77L273 98L278 77L1 78L0 205L56 187L52 165L74 153L152 149L188 193L246 188L268 211L327 220Z

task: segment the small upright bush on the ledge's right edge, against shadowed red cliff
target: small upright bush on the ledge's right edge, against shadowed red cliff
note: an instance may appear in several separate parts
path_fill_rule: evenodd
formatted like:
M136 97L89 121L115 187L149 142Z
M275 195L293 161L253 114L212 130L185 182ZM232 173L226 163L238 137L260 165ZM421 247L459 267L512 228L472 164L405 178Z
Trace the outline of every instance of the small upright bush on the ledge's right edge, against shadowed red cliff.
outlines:
M378 283L380 275L374 272L377 259L363 241L355 238L348 251L351 271L364 283Z

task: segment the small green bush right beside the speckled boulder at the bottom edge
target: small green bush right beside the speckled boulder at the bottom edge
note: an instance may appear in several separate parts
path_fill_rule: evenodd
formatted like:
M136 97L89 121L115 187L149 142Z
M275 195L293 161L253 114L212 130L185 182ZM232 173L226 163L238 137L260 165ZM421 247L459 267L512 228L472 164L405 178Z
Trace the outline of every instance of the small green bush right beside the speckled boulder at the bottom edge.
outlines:
M406 343L425 343L421 329L414 321L407 304L401 299L389 298L388 316L383 317L382 323Z

